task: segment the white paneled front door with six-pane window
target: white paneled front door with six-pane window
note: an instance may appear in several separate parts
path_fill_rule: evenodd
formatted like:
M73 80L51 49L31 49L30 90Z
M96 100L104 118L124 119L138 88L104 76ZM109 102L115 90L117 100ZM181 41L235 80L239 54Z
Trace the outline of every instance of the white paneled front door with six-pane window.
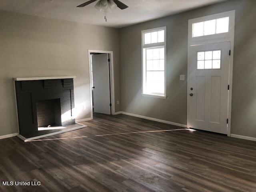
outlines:
M227 134L230 42L188 51L188 126Z

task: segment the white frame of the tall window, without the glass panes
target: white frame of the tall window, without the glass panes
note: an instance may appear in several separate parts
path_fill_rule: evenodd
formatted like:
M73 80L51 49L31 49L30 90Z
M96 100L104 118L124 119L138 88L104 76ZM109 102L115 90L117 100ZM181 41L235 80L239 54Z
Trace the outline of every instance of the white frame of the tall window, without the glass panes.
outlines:
M144 44L144 34L148 32L155 32L159 30L164 30L164 42L159 43L150 43ZM157 93L146 93L146 49L148 48L157 48L157 47L164 47L164 94L157 94ZM144 51L145 50L145 51ZM142 55L142 96L147 97L154 97L154 98L166 98L166 26L152 28L147 30L141 31L141 55Z

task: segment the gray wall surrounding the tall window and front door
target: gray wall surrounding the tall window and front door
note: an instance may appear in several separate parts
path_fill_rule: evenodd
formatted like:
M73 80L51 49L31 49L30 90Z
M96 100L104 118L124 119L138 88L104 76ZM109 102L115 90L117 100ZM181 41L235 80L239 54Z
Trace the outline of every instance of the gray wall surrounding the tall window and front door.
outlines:
M256 0L230 0L121 28L121 110L186 124L188 20L236 10L231 133L256 137ZM141 96L141 31L167 26L167 98Z

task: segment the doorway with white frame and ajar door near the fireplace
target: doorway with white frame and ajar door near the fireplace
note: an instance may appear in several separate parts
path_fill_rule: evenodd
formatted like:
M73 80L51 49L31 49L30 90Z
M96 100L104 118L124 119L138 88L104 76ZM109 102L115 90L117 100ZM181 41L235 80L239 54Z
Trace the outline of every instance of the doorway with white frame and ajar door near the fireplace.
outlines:
M93 112L114 114L113 52L88 50L91 118Z

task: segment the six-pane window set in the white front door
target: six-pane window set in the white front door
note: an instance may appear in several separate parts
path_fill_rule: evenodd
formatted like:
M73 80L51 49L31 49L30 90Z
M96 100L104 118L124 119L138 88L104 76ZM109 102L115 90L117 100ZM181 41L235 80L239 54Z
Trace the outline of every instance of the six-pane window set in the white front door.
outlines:
M197 69L220 69L221 50L197 52Z

